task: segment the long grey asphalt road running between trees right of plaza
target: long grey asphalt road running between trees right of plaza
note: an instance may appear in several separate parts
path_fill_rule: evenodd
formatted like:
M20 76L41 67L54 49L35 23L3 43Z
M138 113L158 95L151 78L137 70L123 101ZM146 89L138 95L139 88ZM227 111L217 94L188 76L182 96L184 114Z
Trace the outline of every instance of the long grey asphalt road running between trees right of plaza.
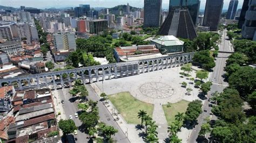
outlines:
M228 41L226 32L227 32L226 30L223 31L222 40L219 45L219 51L232 52L233 51L231 47L232 45ZM215 91L218 91L218 92L223 91L223 89L226 88L223 85L228 85L228 83L224 81L224 78L222 77L222 75L225 73L224 67L226 66L226 60L229 55L230 54L228 53L219 53L218 58L216 58L215 60L216 66L213 68L213 73L211 74L210 77L213 80L213 83L218 83L218 84L213 84L211 87L211 91L208 92L207 99L205 100L205 103L203 105L203 113L201 113L201 115L198 117L198 124L193 128L193 131L190 137L188 138L187 142L197 142L198 134L201 130L201 125L205 123L204 119L210 116L210 113L211 113L212 108L209 106L209 104L212 104L212 103L208 101L208 99L211 98L211 94ZM212 120L215 120L215 119L217 118L213 115Z

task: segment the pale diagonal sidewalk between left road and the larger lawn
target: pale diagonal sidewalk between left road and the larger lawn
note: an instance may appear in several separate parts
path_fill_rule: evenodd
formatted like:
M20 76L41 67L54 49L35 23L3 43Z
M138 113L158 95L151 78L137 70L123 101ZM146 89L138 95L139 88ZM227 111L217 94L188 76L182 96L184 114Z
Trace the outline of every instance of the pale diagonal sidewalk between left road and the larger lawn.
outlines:
M95 90L98 96L102 93L102 91L100 91L95 83L92 83L91 87ZM107 100L107 103L105 102L104 105L107 110L109 110L114 119L119 118L118 120L116 120L116 123L124 132L126 137L130 140L130 142L144 142L142 137L139 137L139 134L143 132L143 130L137 130L135 124L127 124L122 115L117 114L118 111L114 108L113 104L109 100Z

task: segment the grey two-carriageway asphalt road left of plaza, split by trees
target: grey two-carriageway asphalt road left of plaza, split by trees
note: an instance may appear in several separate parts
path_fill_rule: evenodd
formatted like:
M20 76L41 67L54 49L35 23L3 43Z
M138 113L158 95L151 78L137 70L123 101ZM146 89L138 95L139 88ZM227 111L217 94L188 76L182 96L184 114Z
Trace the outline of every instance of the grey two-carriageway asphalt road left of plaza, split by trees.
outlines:
M99 116L100 116L100 121L103 121L107 125L111 125L114 128L118 129L118 133L116 133L113 138L117 140L117 142L124 142L128 143L130 142L127 138L126 135L123 133L121 128L117 125L116 121L114 121L113 117L111 116L111 113L105 108L104 104L99 101L99 97L96 95L95 91L91 87L91 85L85 85L86 89L89 92L89 96L87 96L88 99L91 99L92 101L98 101L98 108L99 108ZM61 100L64 100L63 108L65 111L65 116L67 119L69 119L69 116L72 115L73 120L75 121L76 126L82 125L82 122L78 119L75 118L75 113L78 111L77 108L77 103L76 102L70 102L69 99L72 98L72 96L69 94L69 88L65 89L59 89L58 94L60 96ZM75 138L77 138L76 142L87 142L89 137L87 134L82 133L78 130L78 134L74 135ZM69 139L70 141L71 139Z

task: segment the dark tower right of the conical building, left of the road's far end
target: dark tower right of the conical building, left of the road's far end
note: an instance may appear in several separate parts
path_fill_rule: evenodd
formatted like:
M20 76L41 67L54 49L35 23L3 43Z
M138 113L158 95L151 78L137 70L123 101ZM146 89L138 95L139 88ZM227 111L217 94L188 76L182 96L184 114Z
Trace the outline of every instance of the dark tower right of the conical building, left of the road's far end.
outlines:
M217 31L224 0L207 0L203 26L210 27L211 31Z

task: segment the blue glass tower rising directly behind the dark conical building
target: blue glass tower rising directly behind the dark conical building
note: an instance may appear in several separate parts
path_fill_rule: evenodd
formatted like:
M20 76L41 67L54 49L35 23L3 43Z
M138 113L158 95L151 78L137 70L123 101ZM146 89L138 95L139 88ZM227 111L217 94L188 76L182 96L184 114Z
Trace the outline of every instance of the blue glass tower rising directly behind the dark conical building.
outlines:
M214 0L213 0L214 1ZM169 11L181 8L188 9L194 25L197 24L200 0L170 0Z

